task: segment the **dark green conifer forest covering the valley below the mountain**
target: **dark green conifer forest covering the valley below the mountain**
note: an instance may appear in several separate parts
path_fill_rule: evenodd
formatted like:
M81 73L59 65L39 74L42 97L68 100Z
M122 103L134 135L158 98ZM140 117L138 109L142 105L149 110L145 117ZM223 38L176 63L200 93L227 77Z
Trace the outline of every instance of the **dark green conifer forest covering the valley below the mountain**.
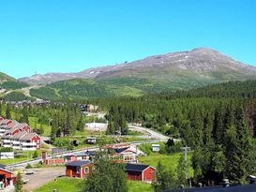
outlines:
M256 81L234 81L175 93L77 102L96 104L107 111L107 134L119 130L126 134L127 123L140 123L181 139L193 152L194 183L216 185L228 178L246 184L248 175L256 174L255 90ZM25 121L25 112L16 109L23 114L18 119ZM27 112L45 124L53 119L52 140L73 135L83 127L83 115L73 103L33 107Z

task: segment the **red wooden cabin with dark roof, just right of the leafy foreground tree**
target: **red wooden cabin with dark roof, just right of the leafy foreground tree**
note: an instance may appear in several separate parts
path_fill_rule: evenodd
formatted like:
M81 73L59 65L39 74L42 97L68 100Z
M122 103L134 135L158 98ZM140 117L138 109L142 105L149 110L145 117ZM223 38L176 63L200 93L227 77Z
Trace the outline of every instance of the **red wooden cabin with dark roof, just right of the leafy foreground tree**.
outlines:
M128 180L151 183L156 178L156 169L148 165L127 164L126 171L128 173Z

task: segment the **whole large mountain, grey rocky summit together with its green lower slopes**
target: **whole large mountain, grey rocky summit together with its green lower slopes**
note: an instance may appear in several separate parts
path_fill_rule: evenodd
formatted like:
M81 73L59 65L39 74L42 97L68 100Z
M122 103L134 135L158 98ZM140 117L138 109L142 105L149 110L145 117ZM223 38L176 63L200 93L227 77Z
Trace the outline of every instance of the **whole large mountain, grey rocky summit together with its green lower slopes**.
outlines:
M31 96L60 99L142 96L145 93L188 90L255 77L256 67L235 61L212 49L197 48L115 66L90 68L78 73L35 75L20 81L45 84L45 87L32 89Z

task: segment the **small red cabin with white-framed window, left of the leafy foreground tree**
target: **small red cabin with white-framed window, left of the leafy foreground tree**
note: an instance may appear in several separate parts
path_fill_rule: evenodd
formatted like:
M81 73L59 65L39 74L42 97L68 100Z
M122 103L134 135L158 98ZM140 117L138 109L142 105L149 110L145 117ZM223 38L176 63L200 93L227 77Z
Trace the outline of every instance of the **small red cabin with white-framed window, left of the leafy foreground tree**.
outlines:
M66 165L66 176L86 178L92 172L92 164L89 160L73 161Z

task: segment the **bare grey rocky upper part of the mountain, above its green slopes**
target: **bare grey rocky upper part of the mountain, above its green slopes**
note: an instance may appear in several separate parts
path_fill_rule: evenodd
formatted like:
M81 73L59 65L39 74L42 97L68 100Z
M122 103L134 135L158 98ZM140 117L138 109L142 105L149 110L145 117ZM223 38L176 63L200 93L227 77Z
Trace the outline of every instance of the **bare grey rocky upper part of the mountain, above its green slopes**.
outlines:
M216 71L221 68L229 68L233 71L241 71L247 75L256 75L256 67L233 60L231 57L210 48L196 48L187 52L168 52L148 56L130 63L122 63L114 66L98 66L84 69L77 73L47 73L19 79L30 84L48 84L55 81L70 79L107 80L119 77L136 77L139 70L163 68L164 70L190 70L195 73Z

